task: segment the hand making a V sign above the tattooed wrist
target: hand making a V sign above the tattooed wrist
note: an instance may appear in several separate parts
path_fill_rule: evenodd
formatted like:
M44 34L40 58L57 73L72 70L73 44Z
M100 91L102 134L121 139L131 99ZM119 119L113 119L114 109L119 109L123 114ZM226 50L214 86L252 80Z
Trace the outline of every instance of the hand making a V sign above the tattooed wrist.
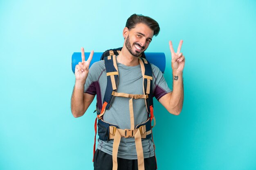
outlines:
M184 65L185 65L185 57L182 54L182 52L180 52L181 46L182 46L183 40L180 40L180 44L178 46L177 52L175 52L173 50L173 44L172 41L169 41L169 46L170 46L170 50L171 50L171 57L172 57L172 69L173 72L183 72L184 69Z

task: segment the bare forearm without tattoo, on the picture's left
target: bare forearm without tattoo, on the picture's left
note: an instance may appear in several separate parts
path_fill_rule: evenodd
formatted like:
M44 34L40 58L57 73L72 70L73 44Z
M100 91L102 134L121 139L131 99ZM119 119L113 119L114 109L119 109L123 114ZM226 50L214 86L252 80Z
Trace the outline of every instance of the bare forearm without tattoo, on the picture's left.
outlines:
M84 114L84 82L76 81L71 97L71 111L74 117L80 117Z

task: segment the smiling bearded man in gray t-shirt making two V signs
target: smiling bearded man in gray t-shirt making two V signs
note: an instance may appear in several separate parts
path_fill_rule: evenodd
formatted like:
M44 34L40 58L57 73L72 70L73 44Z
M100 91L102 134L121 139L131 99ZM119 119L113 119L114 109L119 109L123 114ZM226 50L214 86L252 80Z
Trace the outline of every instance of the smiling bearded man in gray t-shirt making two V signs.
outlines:
M144 52L153 36L157 36L160 31L158 23L150 17L143 15L131 15L123 31L124 46L120 54L116 57L119 72L118 92L127 94L143 94L142 73L139 57ZM162 72L151 65L153 73L153 96L167 109L168 112L179 115L183 105L183 80L185 58L180 53L182 40L178 46L177 52L173 50L172 42L169 42L171 50L171 66L173 70L173 91L168 88ZM71 99L71 110L75 118L83 116L85 111L92 103L97 94L97 112L102 113L102 98L106 92L107 75L104 61L94 63L89 72L90 57L85 61L84 49L81 48L82 62L76 65L76 81ZM131 99L132 100L132 99ZM146 104L144 99L137 99L132 102L132 114L130 98L116 97L109 110L104 109L102 116L104 122L118 125L120 129L132 129L138 124L148 119ZM103 111L103 112L104 112ZM132 124L133 123L133 124ZM133 128L134 129L134 128ZM150 132L151 133L151 132ZM139 134L140 135L140 134ZM95 170L155 170L155 152L154 144L151 139L140 139L143 148L142 157L139 159L135 137L121 137L115 162L114 148L112 139L98 139L98 146L94 154ZM113 150L113 152L112 152ZM112 156L111 156L112 155ZM138 156L138 157L137 157ZM113 158L113 160L112 160ZM112 162L113 161L113 162ZM118 166L117 166L118 165Z

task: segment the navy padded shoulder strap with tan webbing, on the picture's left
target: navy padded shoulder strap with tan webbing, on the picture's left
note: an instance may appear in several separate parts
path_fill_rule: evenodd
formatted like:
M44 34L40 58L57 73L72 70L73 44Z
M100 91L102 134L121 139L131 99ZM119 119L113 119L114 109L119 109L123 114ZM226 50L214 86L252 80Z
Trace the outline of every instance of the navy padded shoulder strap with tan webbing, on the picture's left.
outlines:
M112 95L112 92L117 91L117 85L118 85L118 68L117 68L117 61L116 61L116 55L112 50L109 51L110 55L108 57L104 57L104 63L106 66L106 72L107 72L107 87L105 96L103 99L103 103L107 102L106 109L110 108L110 105L112 104L115 96Z

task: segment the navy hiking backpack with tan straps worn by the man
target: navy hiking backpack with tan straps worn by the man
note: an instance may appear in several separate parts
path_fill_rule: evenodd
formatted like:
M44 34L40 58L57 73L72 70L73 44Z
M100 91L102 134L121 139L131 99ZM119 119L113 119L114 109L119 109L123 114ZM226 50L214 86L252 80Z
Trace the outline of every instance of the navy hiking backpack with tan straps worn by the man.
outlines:
M141 73L143 76L143 94L126 94L117 92L118 81L119 81L119 72L117 68L116 55L118 55L121 51L121 48L115 48L106 50L101 59L104 60L106 66L106 74L107 74L107 86L106 92L103 99L103 106L101 111L97 109L97 118L95 120L94 128L95 128L95 137L94 137L94 153L96 146L96 133L97 133L97 125L98 125L98 135L101 140L109 140L114 139L113 141L113 150L112 150L112 158L113 158L113 170L117 170L117 152L119 148L119 143L121 137L135 137L135 145L137 151L137 159L138 159L138 169L144 170L144 156L141 139L149 139L152 135L151 122L154 119L153 114L153 76L152 69L150 63L145 59L144 52L138 58L139 63L141 65ZM119 129L119 126L115 124L110 124L105 122L102 119L103 114L106 109L110 109L112 102L115 97L126 97L130 98L129 107L130 107L130 122L131 129ZM146 122L142 124L138 124L135 126L134 118L133 118L133 99L144 99L146 104L146 110L148 112L148 119ZM97 124L98 120L98 124ZM155 119L154 119L155 126ZM154 143L153 143L154 144ZM155 144L154 144L155 148Z

